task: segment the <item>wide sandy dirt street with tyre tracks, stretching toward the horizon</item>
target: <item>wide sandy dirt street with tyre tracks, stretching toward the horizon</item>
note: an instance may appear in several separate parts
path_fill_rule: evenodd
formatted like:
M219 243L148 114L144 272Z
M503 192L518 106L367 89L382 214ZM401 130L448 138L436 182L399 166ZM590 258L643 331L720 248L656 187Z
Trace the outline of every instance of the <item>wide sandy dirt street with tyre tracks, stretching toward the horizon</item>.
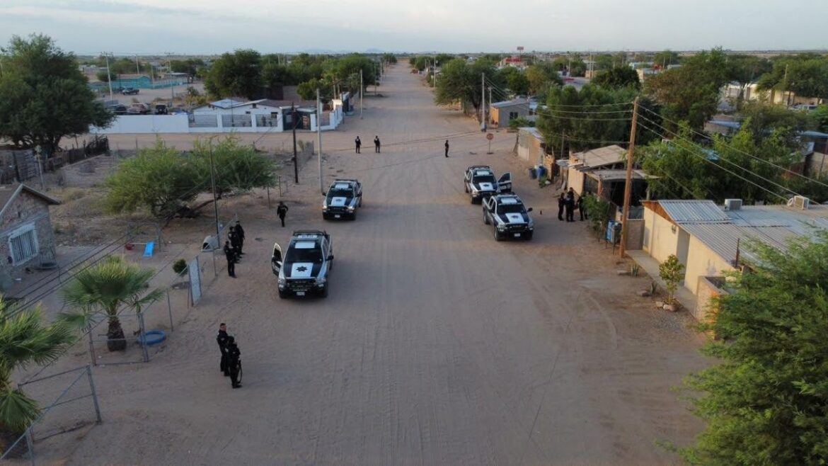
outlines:
M357 221L321 220L315 160L284 196L288 228L277 226L261 193L224 203L222 216L235 211L247 230L238 279L220 275L152 362L96 367L103 425L41 444L41 459L677 462L656 442L686 444L701 428L671 391L705 365L686 313L638 298L646 278L618 276L624 265L585 222L556 219L556 193L528 179L511 155L513 134L498 133L487 155L474 121L436 108L407 66L392 68L381 92L366 99L364 119L324 135L325 182L363 182ZM355 155L358 134L363 153ZM290 135L256 137L259 148L279 148ZM154 136L120 138L144 144ZM167 139L183 148L189 138ZM514 173L515 191L534 207L532 242L493 240L463 192L463 170L476 163ZM291 228L333 236L328 299L277 297L270 249ZM219 322L240 342L239 390L219 373ZM75 352L58 366L83 362Z

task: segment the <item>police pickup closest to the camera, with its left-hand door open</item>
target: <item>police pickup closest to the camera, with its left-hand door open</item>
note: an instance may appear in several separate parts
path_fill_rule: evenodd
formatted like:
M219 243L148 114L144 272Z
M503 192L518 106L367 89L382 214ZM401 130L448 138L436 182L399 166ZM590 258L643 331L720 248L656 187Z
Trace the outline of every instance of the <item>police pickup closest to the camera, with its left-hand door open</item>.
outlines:
M334 266L334 248L326 231L294 231L282 255L273 244L271 269L276 274L279 298L317 294L328 296L328 274Z

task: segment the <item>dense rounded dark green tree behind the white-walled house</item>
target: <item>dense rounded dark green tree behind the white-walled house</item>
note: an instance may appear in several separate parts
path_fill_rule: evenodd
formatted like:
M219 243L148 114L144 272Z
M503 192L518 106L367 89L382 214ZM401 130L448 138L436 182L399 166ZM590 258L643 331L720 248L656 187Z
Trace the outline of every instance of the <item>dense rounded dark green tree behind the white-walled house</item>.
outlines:
M210 66L205 89L215 98L255 99L262 94L261 56L258 51L224 53Z

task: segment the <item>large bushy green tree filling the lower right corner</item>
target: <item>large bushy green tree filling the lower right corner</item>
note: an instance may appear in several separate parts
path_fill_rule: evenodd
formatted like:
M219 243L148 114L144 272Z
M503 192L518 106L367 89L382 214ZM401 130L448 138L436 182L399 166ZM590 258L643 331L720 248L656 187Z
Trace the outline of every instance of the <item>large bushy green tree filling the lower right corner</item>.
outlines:
M825 464L828 232L749 250L749 273L731 276L703 326L718 339L702 352L720 364L687 380L707 425L681 455L691 464Z

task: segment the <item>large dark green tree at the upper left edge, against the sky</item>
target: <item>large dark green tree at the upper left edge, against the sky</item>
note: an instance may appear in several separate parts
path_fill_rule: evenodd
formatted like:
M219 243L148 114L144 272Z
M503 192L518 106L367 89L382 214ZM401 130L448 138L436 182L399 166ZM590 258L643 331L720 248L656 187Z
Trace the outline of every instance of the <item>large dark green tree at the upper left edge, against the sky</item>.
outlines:
M106 128L114 115L95 100L75 56L48 36L12 36L2 49L0 138L22 148L40 146L47 157L60 139Z

